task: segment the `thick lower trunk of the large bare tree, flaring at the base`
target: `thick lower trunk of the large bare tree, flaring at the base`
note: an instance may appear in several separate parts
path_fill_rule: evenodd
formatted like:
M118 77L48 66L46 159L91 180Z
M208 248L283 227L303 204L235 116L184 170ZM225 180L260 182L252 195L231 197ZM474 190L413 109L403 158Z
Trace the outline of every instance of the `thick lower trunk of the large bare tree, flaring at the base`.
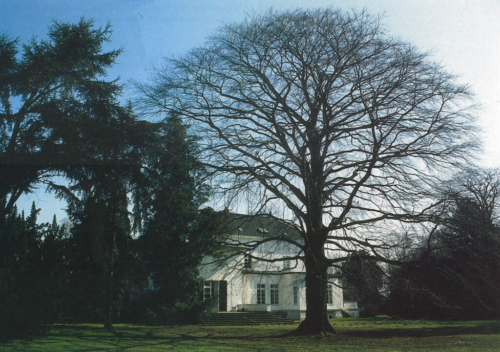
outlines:
M328 265L323 246L310 245L304 257L305 265L305 319L292 332L294 335L334 333L326 314L326 285Z

